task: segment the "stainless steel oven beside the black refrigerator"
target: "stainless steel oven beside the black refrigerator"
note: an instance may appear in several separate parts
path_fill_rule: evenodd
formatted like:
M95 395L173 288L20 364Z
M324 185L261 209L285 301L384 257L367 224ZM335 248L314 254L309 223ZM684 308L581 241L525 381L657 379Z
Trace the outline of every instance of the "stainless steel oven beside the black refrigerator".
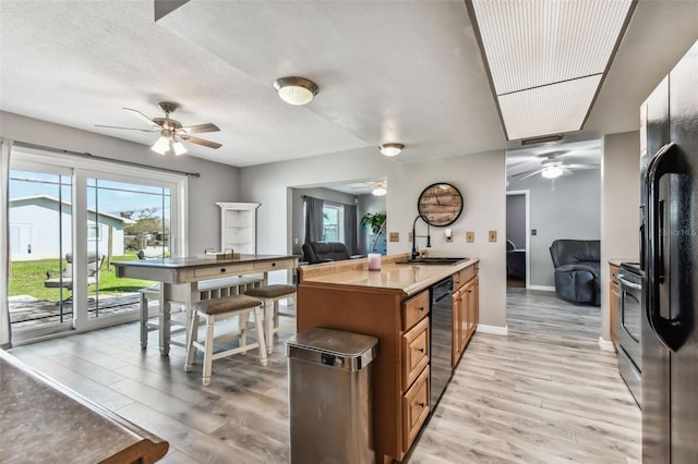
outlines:
M618 370L635 401L642 406L641 301L642 271L636 262L622 262L618 279Z

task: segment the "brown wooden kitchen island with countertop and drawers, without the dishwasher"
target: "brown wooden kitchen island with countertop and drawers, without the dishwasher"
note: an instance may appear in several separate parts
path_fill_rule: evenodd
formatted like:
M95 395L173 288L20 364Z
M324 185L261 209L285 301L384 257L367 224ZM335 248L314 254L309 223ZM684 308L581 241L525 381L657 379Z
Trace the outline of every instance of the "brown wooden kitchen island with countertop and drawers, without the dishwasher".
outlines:
M373 363L373 445L377 463L402 461L429 417L430 288L453 279L452 367L478 318L478 262L397 264L409 254L299 267L298 331L312 327L378 338Z

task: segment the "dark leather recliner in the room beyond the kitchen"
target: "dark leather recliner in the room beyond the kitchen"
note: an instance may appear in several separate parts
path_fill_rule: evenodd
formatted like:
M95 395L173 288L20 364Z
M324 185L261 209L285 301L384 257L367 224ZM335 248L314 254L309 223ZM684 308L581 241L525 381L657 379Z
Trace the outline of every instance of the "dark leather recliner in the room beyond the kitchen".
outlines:
M555 292L573 303L601 305L601 242L556 240L550 246L555 266Z

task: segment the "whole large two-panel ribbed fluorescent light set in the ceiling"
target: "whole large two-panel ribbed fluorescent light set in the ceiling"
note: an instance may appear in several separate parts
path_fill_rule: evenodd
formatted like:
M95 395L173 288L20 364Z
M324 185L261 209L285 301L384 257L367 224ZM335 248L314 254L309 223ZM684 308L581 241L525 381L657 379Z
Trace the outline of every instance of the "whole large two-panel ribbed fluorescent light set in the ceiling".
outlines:
M637 2L466 4L512 141L583 126Z

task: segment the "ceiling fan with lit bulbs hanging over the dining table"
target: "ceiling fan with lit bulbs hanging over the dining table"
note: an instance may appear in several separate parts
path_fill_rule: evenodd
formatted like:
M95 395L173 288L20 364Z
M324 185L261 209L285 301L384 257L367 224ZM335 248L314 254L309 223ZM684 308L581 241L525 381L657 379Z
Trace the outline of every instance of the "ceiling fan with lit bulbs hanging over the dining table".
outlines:
M217 142L205 141L198 137L192 137L191 134L198 134L204 132L217 132L220 131L216 124L205 123L197 125L188 125L183 126L181 122L173 120L170 118L170 114L179 108L178 103L173 103L171 101L161 101L158 103L160 109L165 111L165 118L148 118L143 114L139 110L134 110L131 108L123 108L130 114L133 114L140 121L146 123L148 129L137 129L137 127L120 127L116 125L103 125L95 124L97 127L108 127L108 129L122 129L127 131L141 131L141 132L152 132L152 133L160 133L160 137L155 141L155 144L151 147L151 149L160 155L167 155L168 152L174 154L174 156L183 155L186 152L186 148L182 145L181 141L189 142L196 145L202 145L208 148L220 148L222 145Z

